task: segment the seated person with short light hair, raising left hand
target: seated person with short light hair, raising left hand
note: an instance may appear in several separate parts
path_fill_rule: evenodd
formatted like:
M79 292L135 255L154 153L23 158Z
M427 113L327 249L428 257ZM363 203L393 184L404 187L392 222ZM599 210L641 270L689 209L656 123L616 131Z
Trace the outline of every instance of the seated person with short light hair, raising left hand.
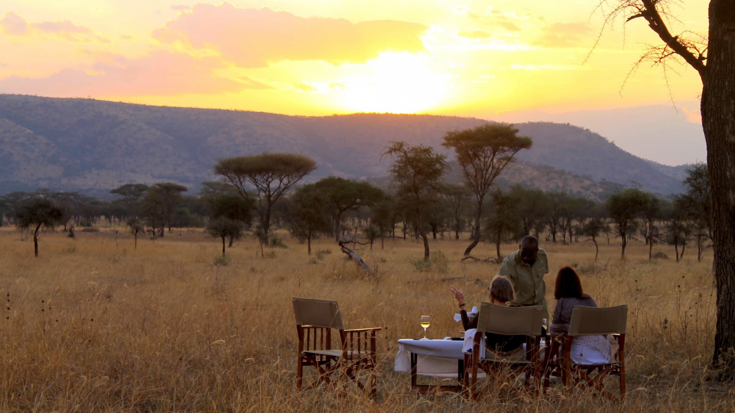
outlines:
M454 298L456 298L457 304L459 305L459 315L462 316L462 326L465 327L465 331L470 328L477 328L479 315L475 315L472 318L467 317L467 311L465 310L465 292L454 286L449 287L449 290L454 293ZM490 302L492 304L508 306L514 299L515 292L513 290L513 284L511 284L509 279L506 279L503 276L495 276L495 278L490 281ZM526 336L507 336L505 334L485 333L486 347L497 353L512 353L522 349L524 343L526 343Z

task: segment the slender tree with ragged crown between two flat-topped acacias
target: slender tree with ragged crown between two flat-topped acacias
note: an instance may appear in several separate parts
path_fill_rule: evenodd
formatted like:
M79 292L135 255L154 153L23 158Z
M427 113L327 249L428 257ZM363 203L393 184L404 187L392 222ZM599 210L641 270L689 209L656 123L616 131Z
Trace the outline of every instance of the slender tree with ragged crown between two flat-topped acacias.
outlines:
M393 159L389 172L423 240L423 259L429 261L429 237L423 226L423 209L440 191L442 177L449 168L447 157L437 154L431 146L411 146L405 142L393 142L385 149L383 157L386 156Z

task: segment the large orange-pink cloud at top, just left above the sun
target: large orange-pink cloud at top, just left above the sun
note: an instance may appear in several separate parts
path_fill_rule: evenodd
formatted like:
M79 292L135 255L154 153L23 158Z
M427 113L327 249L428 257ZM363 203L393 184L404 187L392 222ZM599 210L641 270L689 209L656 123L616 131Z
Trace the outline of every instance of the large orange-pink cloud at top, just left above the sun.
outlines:
M366 62L381 51L420 51L427 26L407 21L362 21L343 18L302 18L290 12L240 9L198 3L154 37L180 41L196 49L214 49L223 59L244 68L284 60Z

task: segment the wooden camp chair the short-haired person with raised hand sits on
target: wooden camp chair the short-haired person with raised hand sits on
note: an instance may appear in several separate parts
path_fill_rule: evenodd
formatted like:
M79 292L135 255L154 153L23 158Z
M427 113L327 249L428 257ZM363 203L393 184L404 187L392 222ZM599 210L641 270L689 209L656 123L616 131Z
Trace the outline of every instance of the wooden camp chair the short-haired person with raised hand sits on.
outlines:
M468 397L476 399L478 396L476 392L478 367L488 376L493 373L497 374L503 367L509 367L517 376L520 376L520 373L526 373L526 385L533 373L534 381L539 384L539 349L543 314L542 306L511 307L490 303L481 304L472 353L465 353L465 374L462 382ZM480 359L480 342L486 332L525 335L527 337L526 351L517 351L506 356L503 353L493 353L488 348L485 351L485 358Z

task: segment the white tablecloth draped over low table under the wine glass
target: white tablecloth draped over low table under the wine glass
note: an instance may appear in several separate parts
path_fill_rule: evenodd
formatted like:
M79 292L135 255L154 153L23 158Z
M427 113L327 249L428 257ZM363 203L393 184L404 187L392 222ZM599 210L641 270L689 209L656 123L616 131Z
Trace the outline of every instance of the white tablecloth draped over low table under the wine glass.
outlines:
M465 359L462 340L398 340L395 371L411 373L410 353L417 354L416 373L419 376L456 377L457 360Z

